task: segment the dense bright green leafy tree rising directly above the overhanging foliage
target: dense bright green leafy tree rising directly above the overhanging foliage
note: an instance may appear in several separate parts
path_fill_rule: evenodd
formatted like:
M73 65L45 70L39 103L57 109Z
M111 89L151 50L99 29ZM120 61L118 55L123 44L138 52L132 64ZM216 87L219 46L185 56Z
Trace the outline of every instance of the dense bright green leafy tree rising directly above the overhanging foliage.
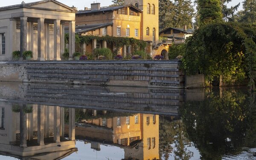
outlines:
M198 0L198 23L200 26L221 22L223 15L220 0Z

